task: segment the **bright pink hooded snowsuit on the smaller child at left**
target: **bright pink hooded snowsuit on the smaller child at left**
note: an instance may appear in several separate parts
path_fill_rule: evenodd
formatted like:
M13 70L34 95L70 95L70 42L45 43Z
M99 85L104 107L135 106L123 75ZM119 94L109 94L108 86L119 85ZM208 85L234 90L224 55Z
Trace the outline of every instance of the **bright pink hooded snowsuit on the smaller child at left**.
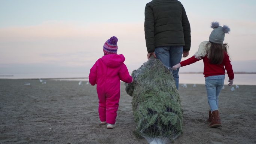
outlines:
M124 61L124 55L104 55L90 70L89 82L91 85L97 84L101 122L115 124L120 98L120 80L132 82Z

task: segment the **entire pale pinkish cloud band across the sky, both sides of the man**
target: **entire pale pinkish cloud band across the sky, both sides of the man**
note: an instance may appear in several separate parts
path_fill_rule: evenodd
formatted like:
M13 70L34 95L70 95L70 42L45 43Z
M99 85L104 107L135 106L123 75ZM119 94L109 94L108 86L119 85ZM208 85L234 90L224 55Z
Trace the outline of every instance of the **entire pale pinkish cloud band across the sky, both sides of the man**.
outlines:
M231 28L225 42L230 46L232 61L255 60L255 22L211 17L202 20L193 14L189 19L192 36L190 56L196 52L200 42L208 40L212 30L210 22L216 20ZM143 22L82 24L48 21L27 27L0 28L0 64L91 67L103 56L103 44L111 36L118 37L118 53L124 54L129 71L147 61Z

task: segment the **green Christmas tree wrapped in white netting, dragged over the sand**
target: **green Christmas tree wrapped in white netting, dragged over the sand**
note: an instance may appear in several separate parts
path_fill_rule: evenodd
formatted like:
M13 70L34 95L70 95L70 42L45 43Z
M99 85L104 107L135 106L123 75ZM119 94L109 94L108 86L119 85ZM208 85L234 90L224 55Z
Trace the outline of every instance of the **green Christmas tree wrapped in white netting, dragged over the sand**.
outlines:
M125 91L132 96L135 134L152 144L164 144L182 134L180 96L170 69L150 58L132 71L134 82L125 83Z

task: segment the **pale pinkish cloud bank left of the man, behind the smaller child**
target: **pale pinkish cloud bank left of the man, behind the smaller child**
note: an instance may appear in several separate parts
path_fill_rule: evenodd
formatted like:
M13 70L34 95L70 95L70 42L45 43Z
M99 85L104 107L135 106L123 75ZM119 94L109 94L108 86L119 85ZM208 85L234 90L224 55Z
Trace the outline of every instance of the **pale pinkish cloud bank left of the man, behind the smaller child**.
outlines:
M0 63L92 65L103 56L103 44L111 36L118 37L118 53L127 55L130 63L137 63L141 52L146 53L143 23L52 21L27 27L0 28Z

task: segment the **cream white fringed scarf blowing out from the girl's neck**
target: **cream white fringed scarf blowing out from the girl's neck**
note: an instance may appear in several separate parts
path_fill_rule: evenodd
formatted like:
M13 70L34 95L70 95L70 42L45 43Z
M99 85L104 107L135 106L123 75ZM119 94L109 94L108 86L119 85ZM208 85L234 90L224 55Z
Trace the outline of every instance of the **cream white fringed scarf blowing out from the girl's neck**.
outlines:
M209 44L207 47L207 43L209 43L209 41L204 41L200 43L200 45L198 46L197 52L193 55L195 56L195 58L202 59L206 55L207 55L207 58L209 58L208 51L211 47L211 44Z

